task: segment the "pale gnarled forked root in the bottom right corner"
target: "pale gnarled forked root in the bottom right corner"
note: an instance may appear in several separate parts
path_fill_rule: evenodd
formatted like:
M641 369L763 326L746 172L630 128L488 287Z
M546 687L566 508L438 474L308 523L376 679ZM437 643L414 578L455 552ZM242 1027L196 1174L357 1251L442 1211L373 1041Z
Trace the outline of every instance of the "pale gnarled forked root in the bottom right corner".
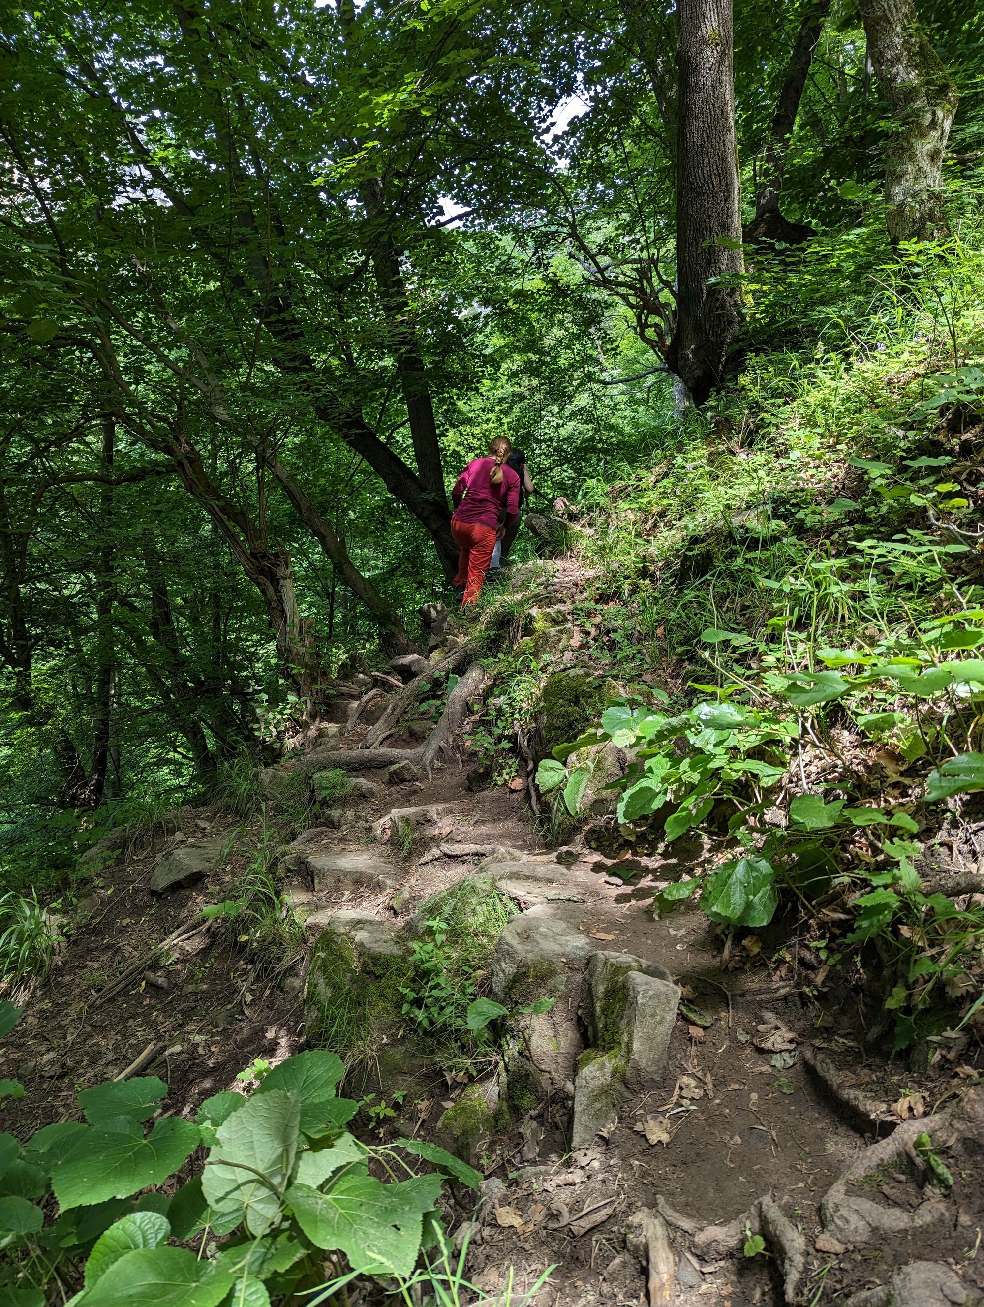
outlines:
M923 1159L915 1145L916 1136L925 1132L932 1138L933 1132L945 1129L949 1121L950 1117L946 1112L937 1116L923 1116L915 1121L903 1121L887 1138L866 1148L823 1196L821 1201L823 1229L830 1230L842 1243L860 1246L885 1235L921 1230L945 1219L949 1208L938 1195L920 1202L915 1212L903 1212L900 1208L881 1206L872 1199L849 1195L847 1187L861 1184L879 1167L887 1167L900 1161L911 1162L919 1171L923 1171Z

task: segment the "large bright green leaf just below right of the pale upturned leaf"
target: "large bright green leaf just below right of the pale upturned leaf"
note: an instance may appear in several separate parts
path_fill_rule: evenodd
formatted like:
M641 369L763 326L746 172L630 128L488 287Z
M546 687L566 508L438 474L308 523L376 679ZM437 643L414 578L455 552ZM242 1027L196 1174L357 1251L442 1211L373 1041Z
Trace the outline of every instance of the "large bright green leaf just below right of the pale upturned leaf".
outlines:
M346 1175L329 1193L302 1184L287 1189L287 1204L307 1238L328 1252L340 1249L353 1270L412 1274L421 1246L423 1213L440 1195L439 1175L401 1184Z

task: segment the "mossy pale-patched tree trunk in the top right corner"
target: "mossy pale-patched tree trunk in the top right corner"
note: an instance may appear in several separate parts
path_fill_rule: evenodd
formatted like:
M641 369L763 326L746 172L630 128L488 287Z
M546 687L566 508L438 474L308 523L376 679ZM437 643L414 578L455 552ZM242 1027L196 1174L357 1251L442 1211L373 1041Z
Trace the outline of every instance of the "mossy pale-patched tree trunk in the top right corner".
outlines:
M885 223L894 246L947 234L942 171L958 93L919 25L915 0L861 0L868 51L895 132L885 149Z

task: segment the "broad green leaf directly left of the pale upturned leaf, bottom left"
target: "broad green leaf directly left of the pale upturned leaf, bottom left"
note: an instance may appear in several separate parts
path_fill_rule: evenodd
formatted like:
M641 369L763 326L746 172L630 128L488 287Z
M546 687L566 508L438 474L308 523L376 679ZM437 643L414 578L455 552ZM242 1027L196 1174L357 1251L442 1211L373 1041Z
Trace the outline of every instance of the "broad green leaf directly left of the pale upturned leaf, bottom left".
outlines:
M94 1127L54 1167L51 1187L61 1210L106 1199L125 1199L162 1184L199 1146L197 1125L163 1116L148 1138Z

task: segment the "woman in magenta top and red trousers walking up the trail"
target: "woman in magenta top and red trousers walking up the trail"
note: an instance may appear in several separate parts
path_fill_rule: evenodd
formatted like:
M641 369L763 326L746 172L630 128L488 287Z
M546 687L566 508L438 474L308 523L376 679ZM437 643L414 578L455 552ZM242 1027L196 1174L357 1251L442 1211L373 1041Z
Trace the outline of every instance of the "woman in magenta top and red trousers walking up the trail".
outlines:
M489 457L472 459L451 491L451 535L461 550L453 586L463 608L478 599L497 541L519 521L520 481L506 463L511 452L506 437L497 435Z

